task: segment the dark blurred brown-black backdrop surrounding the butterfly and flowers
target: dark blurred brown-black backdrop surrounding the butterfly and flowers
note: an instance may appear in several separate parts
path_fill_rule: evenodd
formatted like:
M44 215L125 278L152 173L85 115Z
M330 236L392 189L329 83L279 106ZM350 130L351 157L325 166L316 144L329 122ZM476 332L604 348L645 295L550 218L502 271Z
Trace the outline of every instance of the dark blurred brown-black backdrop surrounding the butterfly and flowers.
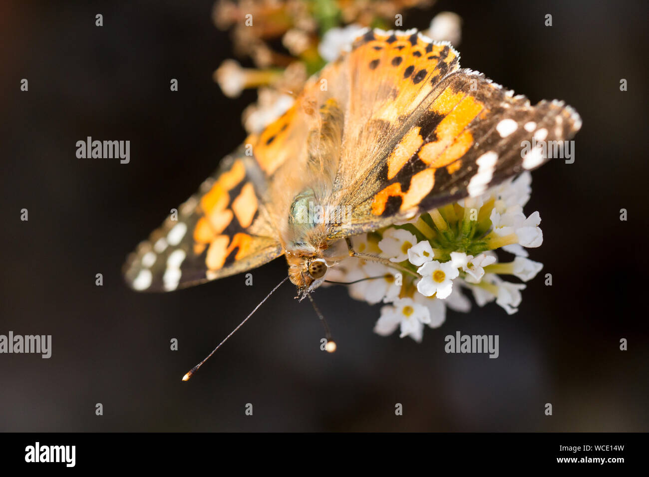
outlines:
M533 174L526 212L541 213L545 241L530 258L545 268L519 313L449 312L418 345L372 332L380 306L319 289L338 343L327 354L312 308L285 285L182 383L286 276L280 258L254 271L252 287L234 276L138 294L121 279L125 256L245 137L240 115L256 93L227 99L212 81L232 56L212 6L1 3L0 334L51 334L53 354L0 355L0 430L648 429L646 3L439 1L404 17L404 28L426 29L437 12L458 13L463 67L582 116L574 164ZM130 140L130 164L78 159L86 136ZM446 354L456 330L498 334L500 357Z

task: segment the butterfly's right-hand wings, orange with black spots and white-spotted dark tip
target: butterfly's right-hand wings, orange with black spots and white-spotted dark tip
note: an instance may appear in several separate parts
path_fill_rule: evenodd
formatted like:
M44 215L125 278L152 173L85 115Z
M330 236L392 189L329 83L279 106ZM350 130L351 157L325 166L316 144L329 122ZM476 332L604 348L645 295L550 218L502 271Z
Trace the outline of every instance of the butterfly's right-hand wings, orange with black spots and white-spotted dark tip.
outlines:
M459 68L450 45L414 31L369 31L321 76L345 84L332 204L350 207L340 238L389 225L490 186L547 158L525 141L565 141L581 120Z

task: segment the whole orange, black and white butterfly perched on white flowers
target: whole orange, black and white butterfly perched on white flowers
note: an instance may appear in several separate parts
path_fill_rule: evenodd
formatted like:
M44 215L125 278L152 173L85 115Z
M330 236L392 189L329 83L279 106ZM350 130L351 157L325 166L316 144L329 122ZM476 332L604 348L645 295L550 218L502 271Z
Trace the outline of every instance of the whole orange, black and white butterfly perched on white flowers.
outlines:
M417 31L359 36L140 243L129 285L169 291L284 255L302 299L356 254L350 236L480 195L546 161L522 141L579 130L569 106L530 106L458 60Z

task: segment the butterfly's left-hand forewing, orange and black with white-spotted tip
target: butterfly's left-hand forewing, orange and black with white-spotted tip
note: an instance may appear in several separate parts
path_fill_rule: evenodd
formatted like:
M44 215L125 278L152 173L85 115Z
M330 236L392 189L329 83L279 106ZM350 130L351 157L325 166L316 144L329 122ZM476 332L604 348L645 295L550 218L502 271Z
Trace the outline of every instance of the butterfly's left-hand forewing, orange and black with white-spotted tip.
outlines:
M199 191L127 258L127 284L138 291L234 275L283 253L258 192L263 175L245 148L221 162Z

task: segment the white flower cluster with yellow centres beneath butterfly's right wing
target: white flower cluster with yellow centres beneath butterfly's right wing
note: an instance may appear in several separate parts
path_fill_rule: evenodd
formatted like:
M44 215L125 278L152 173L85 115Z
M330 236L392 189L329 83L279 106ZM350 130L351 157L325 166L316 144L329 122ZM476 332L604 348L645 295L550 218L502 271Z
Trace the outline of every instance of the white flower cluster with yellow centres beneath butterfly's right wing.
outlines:
M480 197L356 236L354 250L382 262L347 258L329 269L327 280L353 282L349 293L354 299L386 303L374 327L383 336L400 327L401 337L421 341L424 324L441 326L447 307L471 310L462 289L471 291L479 306L495 300L509 314L515 313L525 285L500 275L527 282L543 268L526 258L525 251L543 242L539 213L523 214L531 181L530 173L524 172ZM515 258L498 262L496 249Z

